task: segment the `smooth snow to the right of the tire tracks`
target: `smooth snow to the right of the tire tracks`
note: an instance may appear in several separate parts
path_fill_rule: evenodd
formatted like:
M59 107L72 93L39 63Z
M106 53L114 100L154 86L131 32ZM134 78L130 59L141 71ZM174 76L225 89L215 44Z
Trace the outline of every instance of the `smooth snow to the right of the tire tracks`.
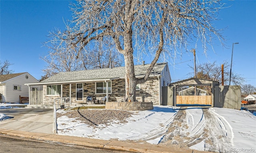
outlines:
M232 128L231 151L256 152L256 116L249 111L239 111L227 108L210 108L210 111L220 115ZM236 150L236 151L235 151ZM254 151L252 151L254 150Z

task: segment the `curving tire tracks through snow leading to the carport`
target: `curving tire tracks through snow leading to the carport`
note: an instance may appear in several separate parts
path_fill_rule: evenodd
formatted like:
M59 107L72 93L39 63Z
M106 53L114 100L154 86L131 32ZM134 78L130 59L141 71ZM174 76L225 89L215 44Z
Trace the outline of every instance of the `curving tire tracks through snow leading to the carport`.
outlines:
M205 151L218 153L230 151L233 133L226 119L209 109L202 109L202 118L194 129L190 127L194 126L192 120L194 120L193 115L182 107L160 143L186 148L204 141Z

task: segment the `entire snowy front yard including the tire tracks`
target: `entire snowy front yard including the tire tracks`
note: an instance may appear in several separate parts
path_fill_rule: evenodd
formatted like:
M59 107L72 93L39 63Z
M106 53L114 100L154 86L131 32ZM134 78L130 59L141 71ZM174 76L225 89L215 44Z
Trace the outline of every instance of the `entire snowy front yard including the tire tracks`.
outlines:
M64 112L58 110L58 113ZM128 123L114 121L108 126L101 125L104 128L74 120L59 117L58 134L104 140L144 140L168 146L180 143L191 149L220 153L256 151L256 116L248 111L154 106L153 110L138 111L127 119Z

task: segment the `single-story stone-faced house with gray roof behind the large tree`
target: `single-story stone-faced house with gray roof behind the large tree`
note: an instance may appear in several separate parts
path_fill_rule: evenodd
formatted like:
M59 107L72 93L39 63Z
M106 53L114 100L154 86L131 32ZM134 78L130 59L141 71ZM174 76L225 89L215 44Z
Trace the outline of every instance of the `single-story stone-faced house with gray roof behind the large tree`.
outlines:
M143 77L149 64L134 66L136 78ZM87 96L101 99L110 95L108 101L122 101L125 93L125 67L60 72L40 83L43 85L43 103L50 104L59 97L70 97L71 103L85 103ZM162 87L171 83L167 63L155 64L148 81L136 86L136 99L140 102L162 104Z

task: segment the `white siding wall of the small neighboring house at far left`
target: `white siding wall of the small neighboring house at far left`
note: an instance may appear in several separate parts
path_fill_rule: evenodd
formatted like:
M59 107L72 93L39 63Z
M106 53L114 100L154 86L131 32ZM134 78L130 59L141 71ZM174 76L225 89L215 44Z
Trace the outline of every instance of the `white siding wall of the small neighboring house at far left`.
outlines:
M25 76L28 75L28 79L25 78ZM36 80L34 77L32 77L30 74L25 73L18 77L14 77L8 81L6 81L6 102L11 103L19 103L20 102L20 96L22 97L28 97L28 85L24 85L24 83L36 83L38 80ZM21 90L14 90L14 85L20 85ZM39 86L40 87L40 86Z

